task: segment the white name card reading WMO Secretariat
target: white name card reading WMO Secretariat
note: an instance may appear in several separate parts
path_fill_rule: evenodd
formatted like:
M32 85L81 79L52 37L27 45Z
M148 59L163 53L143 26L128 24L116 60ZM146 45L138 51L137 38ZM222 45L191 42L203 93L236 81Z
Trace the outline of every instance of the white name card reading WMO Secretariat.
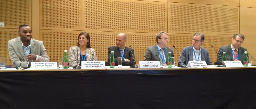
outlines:
M159 61L139 61L139 68L160 68Z

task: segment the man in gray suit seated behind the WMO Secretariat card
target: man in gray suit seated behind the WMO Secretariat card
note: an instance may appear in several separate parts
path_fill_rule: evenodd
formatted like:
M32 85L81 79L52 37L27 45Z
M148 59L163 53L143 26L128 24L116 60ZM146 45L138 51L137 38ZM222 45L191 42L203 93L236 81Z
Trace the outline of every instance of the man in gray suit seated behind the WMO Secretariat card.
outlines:
M166 60L168 60L168 52L172 52L172 57L174 57L173 50L166 47L169 42L169 35L166 32L159 32L156 34L157 45L150 46L147 48L145 53L145 61L160 61L160 64L166 66ZM165 53L164 53L165 52ZM164 55L162 55L164 54Z

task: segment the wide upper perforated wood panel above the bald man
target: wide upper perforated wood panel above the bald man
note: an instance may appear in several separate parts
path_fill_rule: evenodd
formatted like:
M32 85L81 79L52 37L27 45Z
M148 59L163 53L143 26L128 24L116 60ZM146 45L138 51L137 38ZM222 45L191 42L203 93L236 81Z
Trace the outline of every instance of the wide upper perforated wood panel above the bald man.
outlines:
M83 30L167 31L167 3L136 0L83 0Z

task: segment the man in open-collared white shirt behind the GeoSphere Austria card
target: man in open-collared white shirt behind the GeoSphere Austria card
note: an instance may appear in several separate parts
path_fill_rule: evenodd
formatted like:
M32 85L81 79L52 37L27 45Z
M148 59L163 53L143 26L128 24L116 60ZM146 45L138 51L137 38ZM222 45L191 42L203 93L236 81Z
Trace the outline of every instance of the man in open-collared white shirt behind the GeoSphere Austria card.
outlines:
M205 61L207 65L212 65L208 50L201 47L203 43L204 34L200 32L195 33L192 38L192 46L187 46L182 49L178 65L182 66L184 63L188 65L188 61Z

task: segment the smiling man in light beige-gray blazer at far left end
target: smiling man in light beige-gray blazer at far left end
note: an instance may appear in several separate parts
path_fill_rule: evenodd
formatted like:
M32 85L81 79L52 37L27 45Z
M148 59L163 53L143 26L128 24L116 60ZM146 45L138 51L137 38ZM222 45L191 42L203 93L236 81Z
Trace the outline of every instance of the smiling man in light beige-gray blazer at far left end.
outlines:
M20 37L8 41L9 56L15 67L18 67L21 61L22 67L30 67L31 62L50 61L43 42L32 39L32 30L28 25L20 25L18 35ZM25 56L21 60L24 53Z

